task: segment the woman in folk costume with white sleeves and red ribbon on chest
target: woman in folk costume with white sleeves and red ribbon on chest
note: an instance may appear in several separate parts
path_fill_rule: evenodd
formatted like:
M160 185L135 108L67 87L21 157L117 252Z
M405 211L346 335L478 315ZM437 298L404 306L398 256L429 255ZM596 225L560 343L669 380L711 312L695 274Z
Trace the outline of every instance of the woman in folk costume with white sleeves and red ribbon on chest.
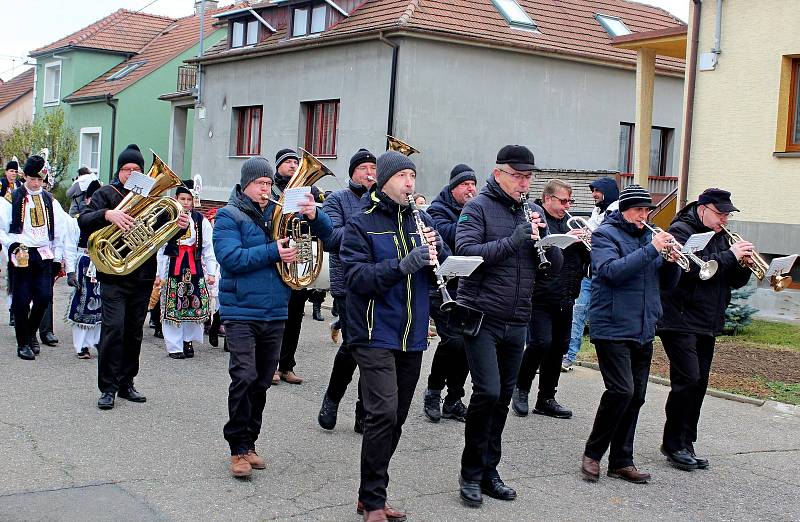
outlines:
M214 284L213 274L217 273L213 229L193 208L193 187L192 180L186 180L175 190L175 199L190 216L189 228L158 252L158 277L163 281L162 330L167 353L173 359L194 357L192 342L203 341L203 323L210 313L208 285Z

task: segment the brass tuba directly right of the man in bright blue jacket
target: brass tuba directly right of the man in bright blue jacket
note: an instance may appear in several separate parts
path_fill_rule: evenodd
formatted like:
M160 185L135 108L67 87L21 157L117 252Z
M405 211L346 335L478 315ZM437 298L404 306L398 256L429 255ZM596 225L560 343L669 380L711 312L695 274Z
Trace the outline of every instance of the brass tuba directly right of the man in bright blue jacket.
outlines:
M286 189L310 187L333 172L306 150L300 149L300 167ZM272 214L272 239L291 238L297 247L297 260L293 263L278 262L278 274L287 286L300 290L311 286L322 270L322 241L311 235L308 221L294 214L283 214L283 196L275 205Z

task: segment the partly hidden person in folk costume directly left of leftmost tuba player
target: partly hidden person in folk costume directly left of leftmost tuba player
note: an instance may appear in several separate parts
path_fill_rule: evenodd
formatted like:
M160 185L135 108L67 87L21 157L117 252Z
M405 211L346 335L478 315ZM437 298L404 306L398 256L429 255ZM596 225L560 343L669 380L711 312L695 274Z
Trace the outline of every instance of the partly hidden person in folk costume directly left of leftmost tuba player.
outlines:
M85 208L92 200L100 182L92 181L84 191L81 204ZM78 359L91 359L89 349L97 350L100 342L101 301L97 270L86 252L86 241L80 241L77 216L70 219L69 234L64 240L64 259L67 265L67 284L73 288L67 306L66 323L72 327L72 344ZM80 247L78 245L84 245Z

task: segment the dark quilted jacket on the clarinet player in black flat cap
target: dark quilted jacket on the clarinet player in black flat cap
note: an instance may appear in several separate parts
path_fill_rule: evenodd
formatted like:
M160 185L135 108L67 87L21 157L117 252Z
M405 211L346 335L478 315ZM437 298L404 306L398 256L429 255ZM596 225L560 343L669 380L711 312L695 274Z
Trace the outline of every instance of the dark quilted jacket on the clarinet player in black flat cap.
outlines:
M534 212L544 210L530 203ZM506 194L493 177L471 201L464 205L456 229L456 254L481 256L481 264L458 283L458 302L482 311L486 317L510 324L527 324L531 316L531 294L536 280L539 256L534 242L517 249L511 234L525 223L519 201ZM541 236L547 229L539 229ZM550 270L561 270L561 250L551 248L547 258Z

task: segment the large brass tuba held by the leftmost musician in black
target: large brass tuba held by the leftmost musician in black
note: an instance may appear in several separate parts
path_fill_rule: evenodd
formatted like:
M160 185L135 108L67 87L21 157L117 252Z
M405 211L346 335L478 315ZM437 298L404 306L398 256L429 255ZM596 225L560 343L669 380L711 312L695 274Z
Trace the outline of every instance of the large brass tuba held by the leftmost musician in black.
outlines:
M134 218L133 227L125 232L108 225L89 236L86 250L97 270L104 274L130 274L178 232L183 207L161 194L179 186L180 178L155 152L147 176L155 180L150 192L145 196L131 191L114 209Z

